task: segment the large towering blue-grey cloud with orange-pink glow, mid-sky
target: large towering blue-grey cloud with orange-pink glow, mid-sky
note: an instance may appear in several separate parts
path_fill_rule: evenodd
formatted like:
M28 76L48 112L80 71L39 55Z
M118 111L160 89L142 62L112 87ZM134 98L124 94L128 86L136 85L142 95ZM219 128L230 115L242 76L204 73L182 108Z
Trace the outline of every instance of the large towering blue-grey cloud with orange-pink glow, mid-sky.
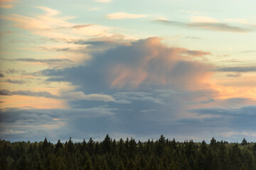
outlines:
M193 86L203 83L213 67L189 61L191 57L210 55L210 52L166 47L160 38L137 40L102 53L92 52L92 55L85 66L46 69L36 75L51 77L48 81L70 81L81 86L85 93L99 93L102 89L136 89L139 86ZM82 79L74 76L78 74Z

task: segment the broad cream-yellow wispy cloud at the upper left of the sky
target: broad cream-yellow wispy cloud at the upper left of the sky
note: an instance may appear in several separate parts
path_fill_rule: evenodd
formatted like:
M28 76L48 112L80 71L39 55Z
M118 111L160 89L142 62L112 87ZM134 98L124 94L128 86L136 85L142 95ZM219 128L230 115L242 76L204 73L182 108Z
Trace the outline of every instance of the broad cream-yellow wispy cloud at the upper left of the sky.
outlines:
M23 16L19 14L7 14L0 16L1 19L13 21L15 27L30 31L33 35L39 35L44 38L63 40L73 42L80 40L81 37L95 38L102 36L111 36L113 30L108 26L100 26L91 23L72 23L69 22L74 16L61 16L60 11L46 6L37 6L44 13L33 16ZM73 45L74 46L74 45Z

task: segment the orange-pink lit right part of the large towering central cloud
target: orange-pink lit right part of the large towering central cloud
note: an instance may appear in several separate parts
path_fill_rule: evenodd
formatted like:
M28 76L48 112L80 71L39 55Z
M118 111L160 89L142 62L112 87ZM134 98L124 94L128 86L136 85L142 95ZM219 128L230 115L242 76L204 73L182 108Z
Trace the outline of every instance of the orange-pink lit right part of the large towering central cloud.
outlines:
M160 38L139 40L127 47L127 56L111 67L112 88L137 88L140 84L159 84L187 89L200 89L212 75L212 65L191 61L191 57L210 55L210 52L171 48L161 44ZM125 51L126 52L126 51ZM120 51L117 55L122 55Z

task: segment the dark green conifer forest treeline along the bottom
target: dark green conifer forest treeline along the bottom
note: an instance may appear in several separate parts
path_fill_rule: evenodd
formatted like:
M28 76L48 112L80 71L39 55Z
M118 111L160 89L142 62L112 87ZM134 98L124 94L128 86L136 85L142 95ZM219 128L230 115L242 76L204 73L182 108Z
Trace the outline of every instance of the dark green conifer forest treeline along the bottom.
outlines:
M159 140L137 142L134 138L102 142L56 144L0 140L0 169L256 169L256 143L176 142L163 135Z

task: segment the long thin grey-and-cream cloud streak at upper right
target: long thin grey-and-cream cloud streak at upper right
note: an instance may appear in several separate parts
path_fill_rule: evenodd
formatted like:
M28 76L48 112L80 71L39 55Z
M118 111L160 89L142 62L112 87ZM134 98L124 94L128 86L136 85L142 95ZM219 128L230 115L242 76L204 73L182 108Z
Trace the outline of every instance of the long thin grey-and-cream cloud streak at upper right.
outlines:
M206 18L203 18L203 19L201 18L201 20L206 20ZM169 21L169 20L156 20L156 21L159 23L164 23L171 26L181 26L184 28L200 28L204 30L215 30L215 31L222 31L222 32L247 33L252 31L252 28L242 28L238 26L231 26L228 23L213 22L213 20L209 20L206 22L191 22L191 23Z

